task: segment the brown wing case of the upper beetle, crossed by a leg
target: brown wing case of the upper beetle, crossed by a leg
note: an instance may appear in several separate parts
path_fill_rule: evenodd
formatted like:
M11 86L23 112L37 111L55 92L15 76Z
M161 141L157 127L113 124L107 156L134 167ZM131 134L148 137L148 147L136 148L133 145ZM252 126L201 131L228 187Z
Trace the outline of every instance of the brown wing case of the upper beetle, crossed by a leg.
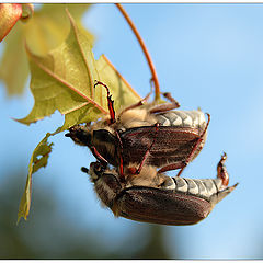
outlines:
M199 139L199 130L197 128L160 126L156 132L155 127L138 127L121 134L121 139L123 148L126 149L123 152L124 163L140 163L141 157L155 140L146 164L162 167L168 163L185 161ZM203 144L197 148L194 157L202 147Z

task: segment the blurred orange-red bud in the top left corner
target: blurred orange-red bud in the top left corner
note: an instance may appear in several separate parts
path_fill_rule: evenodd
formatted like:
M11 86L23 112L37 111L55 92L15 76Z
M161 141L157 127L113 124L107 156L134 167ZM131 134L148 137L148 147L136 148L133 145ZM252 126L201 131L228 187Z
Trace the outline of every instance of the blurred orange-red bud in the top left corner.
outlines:
M22 15L22 4L0 3L0 42Z

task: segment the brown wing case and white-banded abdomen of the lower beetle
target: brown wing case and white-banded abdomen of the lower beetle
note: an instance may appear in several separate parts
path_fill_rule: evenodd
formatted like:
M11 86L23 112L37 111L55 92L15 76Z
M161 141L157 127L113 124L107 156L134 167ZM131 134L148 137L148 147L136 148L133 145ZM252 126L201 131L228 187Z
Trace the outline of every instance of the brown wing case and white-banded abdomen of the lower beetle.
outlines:
M124 188L111 209L115 216L162 225L193 225L208 216L214 206L231 193L221 179L168 178L162 188Z

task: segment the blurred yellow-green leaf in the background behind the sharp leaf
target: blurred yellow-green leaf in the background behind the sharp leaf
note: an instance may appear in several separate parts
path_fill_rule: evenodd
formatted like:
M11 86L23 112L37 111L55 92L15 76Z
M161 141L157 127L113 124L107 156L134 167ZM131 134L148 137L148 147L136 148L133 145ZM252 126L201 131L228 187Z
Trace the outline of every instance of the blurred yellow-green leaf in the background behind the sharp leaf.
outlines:
M26 23L15 24L4 39L4 53L0 64L0 79L4 81L9 95L21 94L28 77L24 43L26 42L34 54L44 55L65 39L69 32L66 8L76 18L80 30L93 42L93 36L81 25L82 14L89 7L90 4L45 3Z

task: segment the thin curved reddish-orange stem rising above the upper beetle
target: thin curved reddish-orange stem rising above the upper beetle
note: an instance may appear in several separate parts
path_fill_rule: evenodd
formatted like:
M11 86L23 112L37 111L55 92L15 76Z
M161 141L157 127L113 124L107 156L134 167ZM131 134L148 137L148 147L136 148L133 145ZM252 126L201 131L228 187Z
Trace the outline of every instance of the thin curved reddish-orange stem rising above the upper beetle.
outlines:
M145 56L146 56L147 62L148 62L148 65L150 67L150 71L151 71L151 75L152 75L152 81L155 83L155 94L156 94L156 99L155 100L158 100L160 98L160 85L159 85L156 68L155 68L155 65L153 65L152 59L150 57L150 54L149 54L149 52L148 52L148 49L147 49L142 38L140 37L140 34L137 31L135 24L133 23L133 21L130 20L129 15L127 14L127 12L124 10L124 8L119 3L115 3L115 5L118 8L118 10L123 14L123 16L125 18L127 23L129 24L130 28L133 30L134 34L136 35L137 41L139 42L139 45L141 47Z

